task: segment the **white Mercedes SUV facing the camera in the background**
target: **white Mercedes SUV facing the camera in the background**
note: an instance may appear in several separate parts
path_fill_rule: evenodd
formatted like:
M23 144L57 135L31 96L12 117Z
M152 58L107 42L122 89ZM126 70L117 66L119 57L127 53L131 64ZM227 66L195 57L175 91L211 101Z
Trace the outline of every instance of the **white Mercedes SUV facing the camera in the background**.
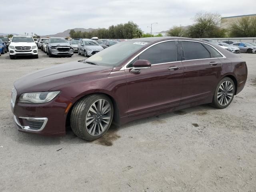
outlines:
M14 35L9 45L10 59L20 55L32 55L38 58L38 48L31 36Z

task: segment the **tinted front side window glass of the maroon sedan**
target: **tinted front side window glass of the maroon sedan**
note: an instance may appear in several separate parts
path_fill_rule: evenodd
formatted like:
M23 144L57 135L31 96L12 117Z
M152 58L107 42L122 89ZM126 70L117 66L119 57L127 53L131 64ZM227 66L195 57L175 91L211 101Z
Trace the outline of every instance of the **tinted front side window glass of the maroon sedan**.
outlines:
M139 59L149 60L151 64L174 62L176 61L175 41L156 44L140 54Z

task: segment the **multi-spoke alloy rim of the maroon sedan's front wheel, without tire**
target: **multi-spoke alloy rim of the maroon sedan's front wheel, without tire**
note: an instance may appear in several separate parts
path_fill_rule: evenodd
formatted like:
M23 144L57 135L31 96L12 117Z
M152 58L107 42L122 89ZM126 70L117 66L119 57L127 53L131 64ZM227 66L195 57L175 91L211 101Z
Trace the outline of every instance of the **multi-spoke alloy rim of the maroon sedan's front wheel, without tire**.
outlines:
M95 101L86 114L85 125L88 133L98 136L108 127L112 116L110 104L105 99Z

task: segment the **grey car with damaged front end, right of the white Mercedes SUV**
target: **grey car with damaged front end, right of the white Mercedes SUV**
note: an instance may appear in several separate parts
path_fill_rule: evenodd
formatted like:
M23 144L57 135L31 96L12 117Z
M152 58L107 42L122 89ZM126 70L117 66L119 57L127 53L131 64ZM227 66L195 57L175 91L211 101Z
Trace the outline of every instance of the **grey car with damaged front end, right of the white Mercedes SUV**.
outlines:
M63 37L50 37L46 44L46 54L49 57L54 55L71 57L74 54L72 46Z

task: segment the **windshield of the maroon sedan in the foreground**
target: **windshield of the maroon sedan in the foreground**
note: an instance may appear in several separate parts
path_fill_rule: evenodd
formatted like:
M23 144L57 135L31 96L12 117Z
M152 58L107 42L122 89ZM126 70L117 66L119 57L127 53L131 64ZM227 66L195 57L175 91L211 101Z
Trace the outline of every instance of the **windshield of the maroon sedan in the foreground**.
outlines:
M143 48L148 42L143 41L126 41L120 42L107 49L104 49L97 54L86 59L86 62L92 62L101 66L118 66L134 54L136 51Z

